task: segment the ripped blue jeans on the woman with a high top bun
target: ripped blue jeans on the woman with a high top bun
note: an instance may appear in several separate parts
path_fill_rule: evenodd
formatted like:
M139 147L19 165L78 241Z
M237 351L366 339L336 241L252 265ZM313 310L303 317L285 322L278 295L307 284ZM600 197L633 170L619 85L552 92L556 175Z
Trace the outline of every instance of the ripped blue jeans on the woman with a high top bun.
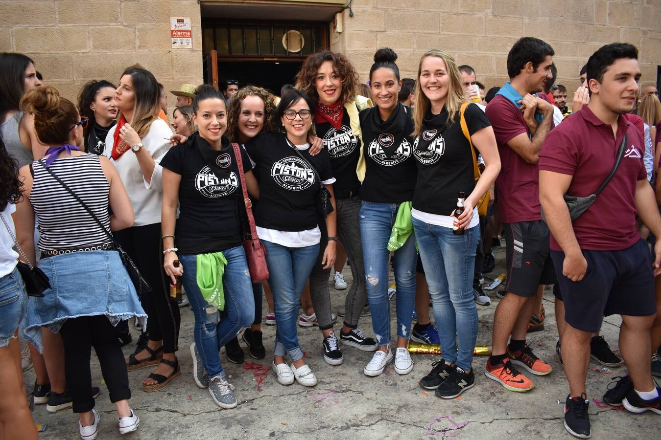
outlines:
M372 329L377 344L390 344L390 302L388 301L388 239L395 224L399 203L364 201L360 208L360 236L363 245L365 278L368 290ZM416 285L415 234L395 251L395 284L397 285L397 336L410 337Z

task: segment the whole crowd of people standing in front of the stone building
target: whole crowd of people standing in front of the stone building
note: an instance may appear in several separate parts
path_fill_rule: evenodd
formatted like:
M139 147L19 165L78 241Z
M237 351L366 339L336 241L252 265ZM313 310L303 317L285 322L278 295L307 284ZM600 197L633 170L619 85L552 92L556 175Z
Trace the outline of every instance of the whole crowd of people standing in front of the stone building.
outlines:
M442 49L422 55L414 79L379 49L367 84L346 56L324 50L280 96L236 80L224 93L182 84L170 123L167 92L139 65L85 84L75 104L38 78L32 59L0 53L3 435L37 437L22 376L33 365L34 404L73 408L80 437L97 438L92 348L120 433L136 431L128 372L152 369L145 392L180 377L187 306L188 373L221 408L241 393L220 355L225 347L242 363L239 338L251 358L271 355L278 383L317 385L297 325L319 327L330 365L342 364L344 346L373 352L372 377L390 363L411 373L411 340L438 344L442 357L418 371L420 386L457 398L477 382L477 307L491 303L483 274L501 237L506 280L485 376L524 392L535 387L529 375L553 372L526 343L544 327L553 285L567 431L591 435L590 358L629 370L605 404L661 414L658 91L639 90L636 47L608 44L578 73L568 108L554 55L521 38L509 81L486 90ZM39 274L50 286L36 292ZM339 336L331 278L346 289ZM623 359L600 336L614 314ZM373 337L359 327L368 315ZM140 336L124 358L129 322Z

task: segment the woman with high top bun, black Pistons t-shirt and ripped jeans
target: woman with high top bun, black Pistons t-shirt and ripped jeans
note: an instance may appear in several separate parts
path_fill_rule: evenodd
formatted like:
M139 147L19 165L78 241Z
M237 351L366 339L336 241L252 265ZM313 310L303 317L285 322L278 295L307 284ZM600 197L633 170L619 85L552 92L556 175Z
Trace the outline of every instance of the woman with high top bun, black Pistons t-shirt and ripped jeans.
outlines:
M360 236L362 237L365 273L368 277L369 309L372 329L379 349L366 365L364 373L377 376L393 360L390 350L390 304L388 301L389 239L397 211L413 199L416 164L413 158L413 121L407 108L399 103L401 88L397 54L379 49L369 71L369 85L376 104L360 113L360 129L365 141L365 179L360 190ZM397 284L397 352L395 371L407 374L413 368L408 354L411 319L416 286L418 252L411 235L395 251Z

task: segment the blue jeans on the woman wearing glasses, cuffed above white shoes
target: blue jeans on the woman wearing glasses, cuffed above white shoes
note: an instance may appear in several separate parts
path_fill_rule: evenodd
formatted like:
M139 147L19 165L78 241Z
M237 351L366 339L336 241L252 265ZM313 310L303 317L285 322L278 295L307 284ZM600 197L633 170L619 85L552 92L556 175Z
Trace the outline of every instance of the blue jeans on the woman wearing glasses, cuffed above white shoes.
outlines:
M297 361L303 358L298 343L296 321L301 307L301 292L317 261L319 244L306 247L287 247L262 240L266 249L268 284L273 292L276 309L276 348L274 356L286 356Z

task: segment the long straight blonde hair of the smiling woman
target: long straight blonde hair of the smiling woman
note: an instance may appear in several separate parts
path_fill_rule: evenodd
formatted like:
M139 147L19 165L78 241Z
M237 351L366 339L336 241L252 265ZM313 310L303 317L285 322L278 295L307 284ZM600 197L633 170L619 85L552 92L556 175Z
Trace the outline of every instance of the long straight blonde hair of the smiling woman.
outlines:
M446 109L447 109L447 125L451 125L454 121L457 111L461 107L461 103L467 102L467 99L463 95L463 86L461 85L461 74L459 74L459 69L457 69L457 63L454 58L449 55L444 50L441 49L430 49L422 55L420 58L420 64L418 65L418 77L416 77L415 82L415 92L416 97L415 106L413 108L413 123L414 129L412 136L418 136L422 132L422 119L424 118L425 113L427 113L428 108L431 107L431 102L429 98L424 94L422 88L420 87L420 73L422 73L422 61L426 57L436 57L440 58L446 63L447 78L447 96L446 96Z

